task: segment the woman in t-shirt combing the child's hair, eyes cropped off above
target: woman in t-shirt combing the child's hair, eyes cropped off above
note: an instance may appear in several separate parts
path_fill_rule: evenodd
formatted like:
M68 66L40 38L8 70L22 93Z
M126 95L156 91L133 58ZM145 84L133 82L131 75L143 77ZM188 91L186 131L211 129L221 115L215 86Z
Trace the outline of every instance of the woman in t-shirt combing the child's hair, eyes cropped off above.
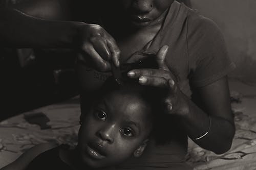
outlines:
M127 161L127 168L187 169L187 137L217 154L230 149L234 122L226 75L234 64L210 19L174 0L28 0L15 8L0 9L0 44L81 52L77 70L86 103L111 69L155 56L157 69L133 69L127 76L156 93L167 89L159 109L174 115L177 126L175 133L164 131L172 141L159 147L151 140L148 152Z

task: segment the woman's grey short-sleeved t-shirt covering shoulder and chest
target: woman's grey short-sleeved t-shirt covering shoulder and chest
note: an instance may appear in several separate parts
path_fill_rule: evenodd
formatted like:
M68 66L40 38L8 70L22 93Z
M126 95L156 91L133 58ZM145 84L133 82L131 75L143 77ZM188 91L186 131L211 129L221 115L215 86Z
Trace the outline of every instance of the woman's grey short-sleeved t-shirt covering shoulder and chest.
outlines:
M234 68L216 23L176 1L169 8L163 27L144 51L156 53L166 44L166 63L178 75L179 87L187 96L191 95L190 86L213 83Z

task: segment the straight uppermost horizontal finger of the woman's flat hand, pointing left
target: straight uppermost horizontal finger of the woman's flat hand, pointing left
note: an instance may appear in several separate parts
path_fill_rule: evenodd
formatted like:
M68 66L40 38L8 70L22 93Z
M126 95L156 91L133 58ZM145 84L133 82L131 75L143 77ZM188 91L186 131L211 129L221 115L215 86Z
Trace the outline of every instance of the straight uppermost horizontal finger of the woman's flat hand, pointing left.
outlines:
M170 79L170 72L160 69L133 69L127 72L127 76L130 78L139 78L141 76L155 76L164 77L165 79Z

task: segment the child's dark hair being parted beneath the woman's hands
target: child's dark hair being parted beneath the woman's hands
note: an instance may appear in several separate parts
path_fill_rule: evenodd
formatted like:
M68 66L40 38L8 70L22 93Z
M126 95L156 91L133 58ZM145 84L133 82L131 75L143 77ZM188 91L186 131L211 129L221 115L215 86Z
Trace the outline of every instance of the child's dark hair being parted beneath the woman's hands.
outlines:
M94 102L97 102L102 96L111 93L112 91L122 91L129 92L139 95L148 105L151 106L152 116L151 120L153 121L153 129L150 134L151 138L155 138L157 144L164 144L172 139L172 131L174 131L175 120L173 120L172 115L164 113L164 108L162 106L162 100L164 95L166 95L165 90L157 89L152 86L143 86L138 84L137 80L130 79L125 81L123 85L119 85L113 77L109 77L103 86L97 91L97 94L94 96ZM125 101L123 101L125 102ZM166 135L166 130L168 134Z

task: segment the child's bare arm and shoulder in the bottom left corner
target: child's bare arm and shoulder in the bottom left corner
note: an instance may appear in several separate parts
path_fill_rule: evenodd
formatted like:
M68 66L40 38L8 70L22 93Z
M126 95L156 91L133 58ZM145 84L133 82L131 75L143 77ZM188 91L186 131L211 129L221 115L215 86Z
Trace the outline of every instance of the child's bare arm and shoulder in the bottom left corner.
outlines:
M29 149L27 152L22 154L18 159L9 165L1 168L0 170L24 170L28 166L28 164L39 154L42 152L48 151L57 147L55 143L41 143L36 145L35 147Z

